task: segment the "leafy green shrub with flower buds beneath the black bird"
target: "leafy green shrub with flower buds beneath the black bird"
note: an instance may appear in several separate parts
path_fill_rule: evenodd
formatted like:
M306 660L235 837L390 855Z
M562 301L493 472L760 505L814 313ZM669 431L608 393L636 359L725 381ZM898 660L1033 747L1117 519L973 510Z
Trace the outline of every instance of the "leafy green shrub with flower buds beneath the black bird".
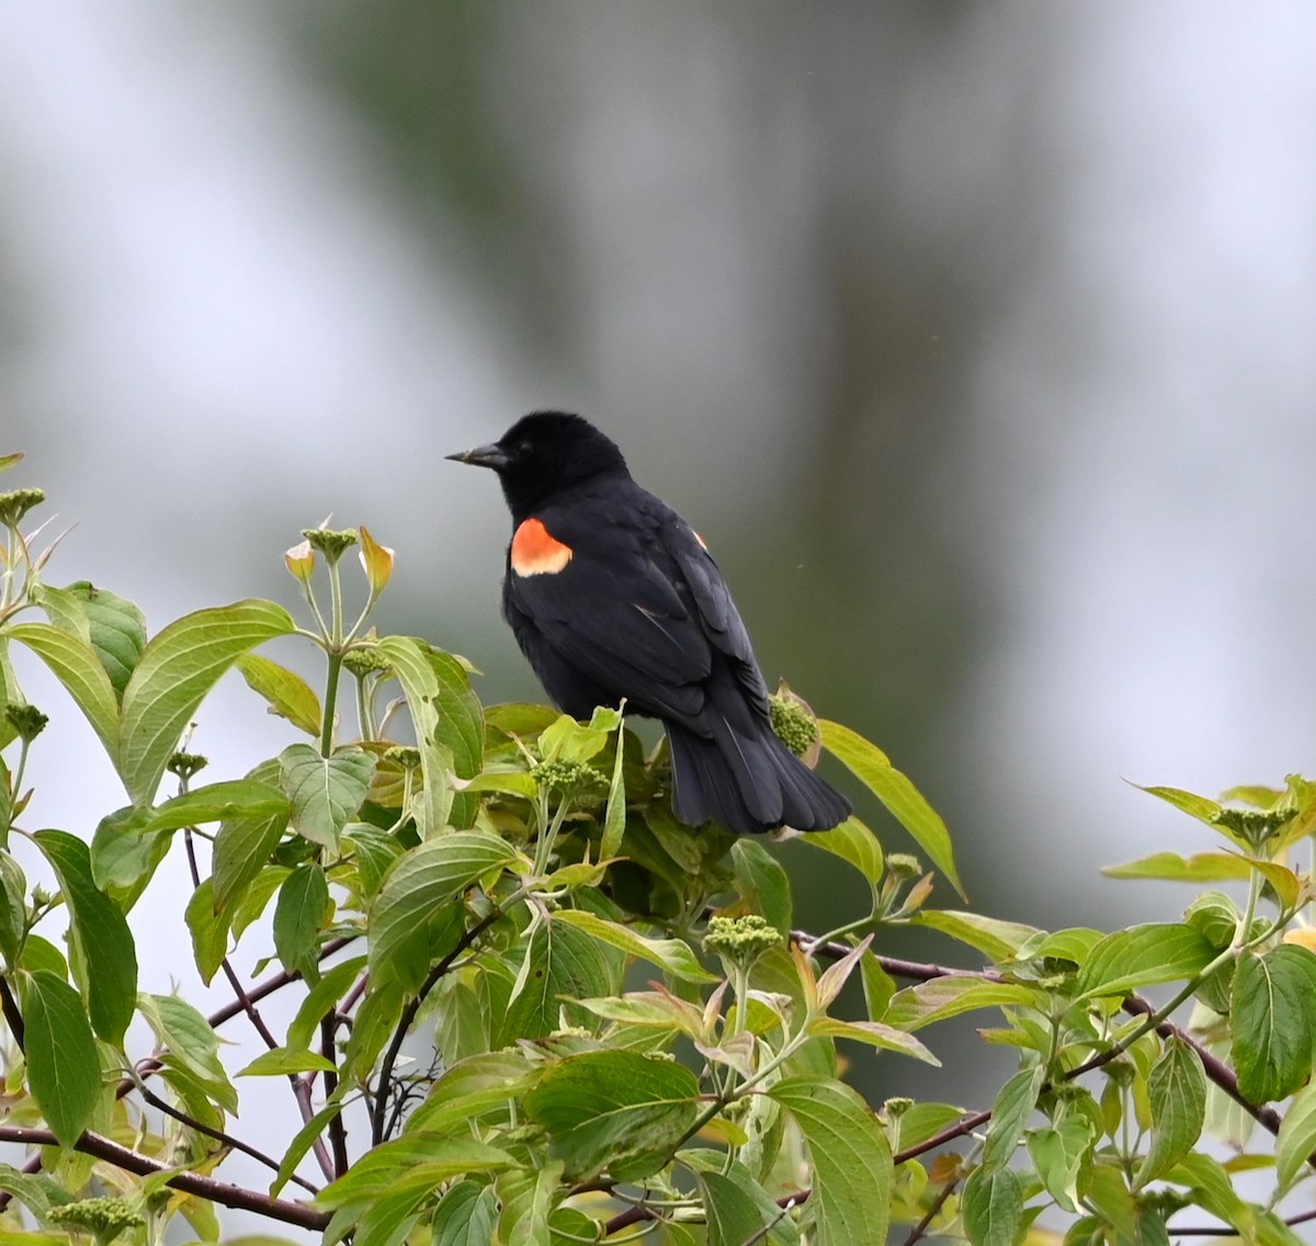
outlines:
M5 1242L155 1242L174 1217L216 1241L225 1207L267 1217L261 1241L357 1246L1302 1239L1307 780L1149 789L1202 824L1203 851L1111 872L1208 889L1111 933L932 908L933 872L851 818L803 842L871 904L807 933L770 842L674 821L663 749L624 707L483 705L462 658L376 635L393 554L366 529L288 551L300 621L249 600L151 634L113 592L47 583L51 550L25 536L42 501L0 496ZM261 651L280 637L318 650L318 688ZM67 701L26 703L18 649ZM213 775L187 730L230 668L288 743ZM122 780L89 838L42 828L25 787L47 713L80 713ZM775 717L958 891L945 825L880 750L790 693ZM171 853L195 889L178 992L150 995L133 909ZM901 925L975 967L884 955ZM272 949L253 979L230 959L243 941ZM204 1016L197 979L232 1004ZM275 992L296 1004L279 1033L255 1007ZM846 1083L848 1060L936 1063L937 1024L970 1012L1019 1054L990 1105L870 1104ZM236 1068L222 1037L243 1025L267 1050ZM271 1093L304 1121L272 1155L241 1113ZM236 1153L267 1182L225 1179Z

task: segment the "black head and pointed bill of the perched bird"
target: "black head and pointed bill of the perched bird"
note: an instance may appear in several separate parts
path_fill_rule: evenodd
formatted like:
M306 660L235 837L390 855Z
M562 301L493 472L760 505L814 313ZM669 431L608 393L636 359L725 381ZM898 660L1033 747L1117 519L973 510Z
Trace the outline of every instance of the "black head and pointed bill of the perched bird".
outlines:
M517 522L565 489L603 476L629 476L612 441L588 420L561 411L532 412L497 441L447 458L496 471Z

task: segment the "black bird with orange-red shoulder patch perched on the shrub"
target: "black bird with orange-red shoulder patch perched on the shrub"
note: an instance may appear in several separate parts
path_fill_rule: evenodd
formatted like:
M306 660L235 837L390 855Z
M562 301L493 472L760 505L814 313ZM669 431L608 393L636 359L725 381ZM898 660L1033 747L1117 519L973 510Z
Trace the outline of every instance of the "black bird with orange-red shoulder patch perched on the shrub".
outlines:
M488 446L515 525L503 614L549 696L587 718L616 705L658 718L672 810L738 833L825 830L849 813L772 732L767 685L704 542L626 470L594 425L534 412Z

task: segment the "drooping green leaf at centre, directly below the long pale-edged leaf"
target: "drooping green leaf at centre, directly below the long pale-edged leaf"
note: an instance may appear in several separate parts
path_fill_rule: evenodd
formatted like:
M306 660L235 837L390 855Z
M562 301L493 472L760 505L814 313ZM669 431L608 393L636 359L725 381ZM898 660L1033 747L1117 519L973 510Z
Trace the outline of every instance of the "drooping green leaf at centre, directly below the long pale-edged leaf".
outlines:
M558 1029L565 1001L615 993L621 958L605 950L570 921L541 921L530 935L499 1042L544 1038Z

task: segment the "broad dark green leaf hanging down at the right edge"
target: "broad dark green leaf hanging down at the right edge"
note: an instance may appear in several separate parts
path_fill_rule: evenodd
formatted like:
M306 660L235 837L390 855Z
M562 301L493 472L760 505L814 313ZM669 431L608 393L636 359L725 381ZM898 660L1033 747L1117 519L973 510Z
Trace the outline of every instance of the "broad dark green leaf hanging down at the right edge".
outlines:
M1292 1095L1312 1071L1312 954L1282 943L1245 951L1233 985L1238 1089L1255 1104Z

